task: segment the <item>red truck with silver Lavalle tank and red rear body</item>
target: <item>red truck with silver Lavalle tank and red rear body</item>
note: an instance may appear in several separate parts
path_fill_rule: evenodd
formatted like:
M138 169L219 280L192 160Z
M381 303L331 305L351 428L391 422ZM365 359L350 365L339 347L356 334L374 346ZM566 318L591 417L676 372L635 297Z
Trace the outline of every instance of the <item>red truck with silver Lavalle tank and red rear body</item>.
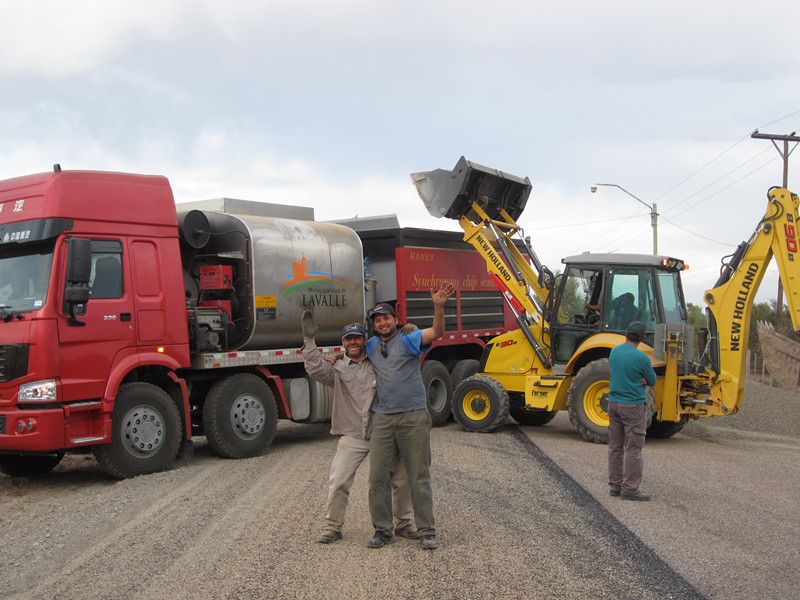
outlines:
M60 167L0 182L0 470L92 452L131 477L169 468L195 435L240 458L267 450L279 418L330 420L330 389L303 369L300 316L313 310L317 343L340 351L365 285L368 303L420 327L430 289L455 285L422 365L435 424L514 327L460 234L225 200L177 212L164 177Z

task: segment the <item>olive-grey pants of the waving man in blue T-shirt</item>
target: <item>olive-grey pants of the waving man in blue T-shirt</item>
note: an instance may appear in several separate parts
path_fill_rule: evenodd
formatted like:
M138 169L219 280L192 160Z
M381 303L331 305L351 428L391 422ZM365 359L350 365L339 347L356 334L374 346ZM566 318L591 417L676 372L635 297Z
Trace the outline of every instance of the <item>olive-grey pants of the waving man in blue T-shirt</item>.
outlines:
M411 503L419 535L436 533L431 492L431 417L428 409L372 416L370 439L369 512L376 531L392 532L392 494L389 481L398 460L403 461L411 488Z

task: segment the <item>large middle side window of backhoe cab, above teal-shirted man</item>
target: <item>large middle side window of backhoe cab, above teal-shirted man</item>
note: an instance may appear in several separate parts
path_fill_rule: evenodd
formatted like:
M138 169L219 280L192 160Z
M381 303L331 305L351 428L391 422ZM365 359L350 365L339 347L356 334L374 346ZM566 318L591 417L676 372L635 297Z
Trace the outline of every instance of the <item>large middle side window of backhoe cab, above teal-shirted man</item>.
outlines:
M631 321L641 321L648 332L655 331L658 302L651 269L609 269L603 304L605 329L624 332Z

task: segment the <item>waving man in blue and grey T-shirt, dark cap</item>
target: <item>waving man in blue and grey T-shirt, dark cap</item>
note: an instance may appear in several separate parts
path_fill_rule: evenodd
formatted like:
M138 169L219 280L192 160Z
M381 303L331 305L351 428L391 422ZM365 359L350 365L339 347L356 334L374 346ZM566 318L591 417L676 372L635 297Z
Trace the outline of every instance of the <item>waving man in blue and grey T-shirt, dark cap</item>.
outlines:
M433 300L433 324L408 335L398 331L397 315L389 304L377 304L368 319L378 334L367 341L367 356L375 367L378 395L372 405L370 440L369 512L375 535L370 548L394 542L389 481L399 460L411 488L411 503L420 544L433 550L439 544L433 520L431 492L431 417L422 383L419 358L444 333L444 304L453 293L445 283Z

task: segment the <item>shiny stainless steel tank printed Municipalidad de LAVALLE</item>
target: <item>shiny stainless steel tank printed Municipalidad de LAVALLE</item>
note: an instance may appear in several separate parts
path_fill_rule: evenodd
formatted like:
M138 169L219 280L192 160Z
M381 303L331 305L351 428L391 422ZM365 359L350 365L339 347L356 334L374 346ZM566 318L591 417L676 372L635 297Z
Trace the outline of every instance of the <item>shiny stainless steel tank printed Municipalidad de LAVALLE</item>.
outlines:
M240 296L245 300L240 304L249 301L250 306L238 311L248 326L231 340L233 348L301 346L300 316L305 309L313 311L319 323L318 345L340 343L344 325L364 321L361 240L352 229L315 221L206 214L212 241L203 249L205 256L211 251L223 258L239 257L244 259L240 269L249 269L249 292Z

